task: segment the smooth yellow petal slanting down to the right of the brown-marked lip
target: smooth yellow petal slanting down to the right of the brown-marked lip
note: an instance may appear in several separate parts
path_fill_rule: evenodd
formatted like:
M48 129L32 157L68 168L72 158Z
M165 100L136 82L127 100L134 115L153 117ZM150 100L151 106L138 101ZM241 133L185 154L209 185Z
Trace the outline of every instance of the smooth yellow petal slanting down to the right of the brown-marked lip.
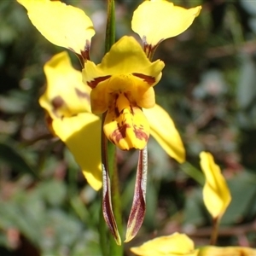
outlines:
M185 160L185 149L175 125L169 114L159 105L143 109L148 119L150 134L172 158L182 163Z

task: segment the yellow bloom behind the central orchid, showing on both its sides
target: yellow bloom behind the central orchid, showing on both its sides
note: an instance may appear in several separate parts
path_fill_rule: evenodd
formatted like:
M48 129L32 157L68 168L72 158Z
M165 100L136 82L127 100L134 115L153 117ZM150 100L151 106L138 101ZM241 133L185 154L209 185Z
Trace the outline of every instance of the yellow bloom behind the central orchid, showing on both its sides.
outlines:
M47 87L39 99L52 121L55 134L67 144L91 187L102 188L100 119L90 113L90 87L71 65L67 52L44 65ZM184 160L183 143L173 121L163 108L143 109L151 135L177 161ZM158 124L158 125L156 125Z

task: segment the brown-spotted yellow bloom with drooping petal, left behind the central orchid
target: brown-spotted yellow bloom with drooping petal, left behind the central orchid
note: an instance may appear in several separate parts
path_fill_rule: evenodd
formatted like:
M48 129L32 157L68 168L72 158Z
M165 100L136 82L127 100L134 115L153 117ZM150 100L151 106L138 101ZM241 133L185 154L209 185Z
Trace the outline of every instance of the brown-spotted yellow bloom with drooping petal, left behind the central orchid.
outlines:
M67 52L45 63L47 88L40 105L52 119L55 134L67 144L93 189L102 187L101 121L90 113L90 87L82 82Z

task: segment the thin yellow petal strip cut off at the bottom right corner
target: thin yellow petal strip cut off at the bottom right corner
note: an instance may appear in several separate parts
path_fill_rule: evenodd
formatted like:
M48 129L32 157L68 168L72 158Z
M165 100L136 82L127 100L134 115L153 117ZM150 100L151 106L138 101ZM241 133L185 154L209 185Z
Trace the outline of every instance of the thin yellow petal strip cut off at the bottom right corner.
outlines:
M198 256L255 256L256 249L248 247L201 247Z

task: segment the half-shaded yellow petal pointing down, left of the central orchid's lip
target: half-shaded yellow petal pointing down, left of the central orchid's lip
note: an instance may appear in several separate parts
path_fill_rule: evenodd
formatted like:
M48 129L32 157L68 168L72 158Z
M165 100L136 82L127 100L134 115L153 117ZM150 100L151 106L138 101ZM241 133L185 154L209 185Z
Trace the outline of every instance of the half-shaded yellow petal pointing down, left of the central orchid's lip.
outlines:
M102 188L101 121L92 113L53 120L53 129L82 168L93 189Z

